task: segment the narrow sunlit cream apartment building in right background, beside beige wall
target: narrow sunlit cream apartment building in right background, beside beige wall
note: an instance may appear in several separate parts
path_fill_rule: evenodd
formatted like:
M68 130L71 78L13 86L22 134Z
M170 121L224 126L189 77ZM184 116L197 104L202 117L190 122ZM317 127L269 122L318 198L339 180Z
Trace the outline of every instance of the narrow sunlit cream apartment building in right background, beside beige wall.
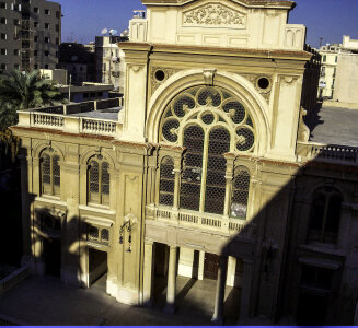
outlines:
M321 98L325 98L325 99L333 98L340 48L342 45L327 44L321 47L319 50L320 55L322 56L320 90L319 90L319 97Z

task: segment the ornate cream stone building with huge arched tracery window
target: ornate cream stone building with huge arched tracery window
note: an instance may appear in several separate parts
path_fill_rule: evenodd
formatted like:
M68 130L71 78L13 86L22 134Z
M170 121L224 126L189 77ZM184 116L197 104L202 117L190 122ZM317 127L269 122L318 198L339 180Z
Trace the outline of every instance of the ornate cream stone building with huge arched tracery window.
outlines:
M288 23L296 3L142 3L118 44L123 104L19 113L23 262L219 324L230 293L239 324L351 325L358 151L309 141L321 59Z

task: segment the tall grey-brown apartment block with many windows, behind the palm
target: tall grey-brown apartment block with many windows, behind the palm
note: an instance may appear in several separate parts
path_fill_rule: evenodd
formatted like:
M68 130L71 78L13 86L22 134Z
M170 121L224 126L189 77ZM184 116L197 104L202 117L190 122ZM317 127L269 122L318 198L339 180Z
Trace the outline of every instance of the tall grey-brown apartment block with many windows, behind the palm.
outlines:
M0 70L55 69L61 7L45 0L0 1Z

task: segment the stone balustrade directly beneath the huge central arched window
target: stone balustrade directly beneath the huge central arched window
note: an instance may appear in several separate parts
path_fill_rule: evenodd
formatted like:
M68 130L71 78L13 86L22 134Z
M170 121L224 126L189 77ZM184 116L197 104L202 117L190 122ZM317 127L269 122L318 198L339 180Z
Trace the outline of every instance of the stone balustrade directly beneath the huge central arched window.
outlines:
M256 225L249 220L224 218L223 215L199 213L189 210L174 210L169 207L149 204L146 220L165 222L177 227L192 227L210 231L220 235L255 236Z

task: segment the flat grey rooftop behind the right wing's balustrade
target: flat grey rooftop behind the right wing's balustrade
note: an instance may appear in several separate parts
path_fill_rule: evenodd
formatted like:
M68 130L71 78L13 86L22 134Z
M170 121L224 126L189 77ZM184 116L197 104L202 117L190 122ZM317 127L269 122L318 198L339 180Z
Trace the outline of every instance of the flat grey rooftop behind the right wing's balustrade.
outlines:
M311 141L358 147L358 110L322 107L308 120Z

